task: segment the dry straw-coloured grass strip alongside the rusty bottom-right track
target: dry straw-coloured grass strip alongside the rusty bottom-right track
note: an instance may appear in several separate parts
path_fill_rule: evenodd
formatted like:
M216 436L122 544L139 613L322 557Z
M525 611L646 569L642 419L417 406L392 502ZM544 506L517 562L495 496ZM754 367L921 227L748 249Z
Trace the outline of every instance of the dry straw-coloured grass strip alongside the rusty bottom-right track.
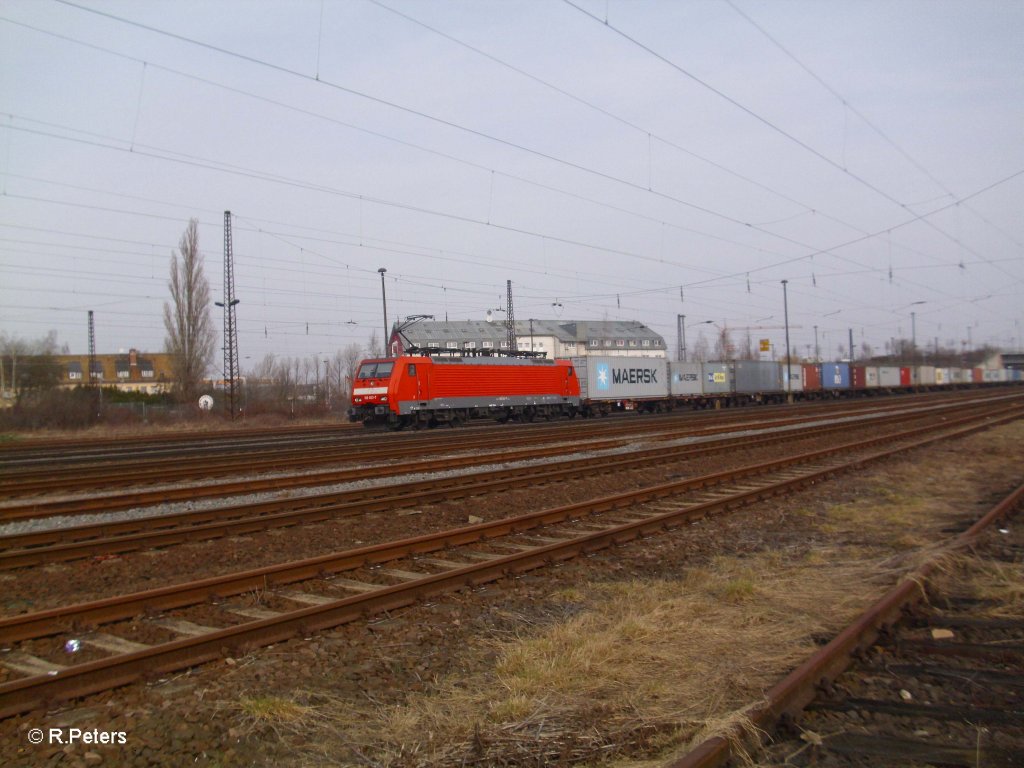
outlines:
M1009 439L999 433L1007 451L986 462L1013 463L1009 446L1024 428L1009 431ZM399 705L322 702L303 734L318 749L297 764L637 767L737 725L750 732L751 703L813 652L816 638L942 552L935 543L963 518L963 500L984 496L985 472L940 454L865 475L853 501L804 504L801 524L823 542L809 551L719 557L678 581L559 590L549 602L571 606L568 618L465 649L460 666L475 672ZM945 570L956 562L947 555ZM1009 593L1021 610L1019 573L993 567L985 589Z

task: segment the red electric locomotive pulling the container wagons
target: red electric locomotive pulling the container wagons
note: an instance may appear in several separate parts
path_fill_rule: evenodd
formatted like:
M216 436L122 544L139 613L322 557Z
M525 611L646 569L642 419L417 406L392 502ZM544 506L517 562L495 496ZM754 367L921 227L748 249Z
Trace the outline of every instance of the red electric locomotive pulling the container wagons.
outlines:
M453 426L474 418L532 421L575 416L580 381L570 360L540 357L381 357L362 360L350 421Z

